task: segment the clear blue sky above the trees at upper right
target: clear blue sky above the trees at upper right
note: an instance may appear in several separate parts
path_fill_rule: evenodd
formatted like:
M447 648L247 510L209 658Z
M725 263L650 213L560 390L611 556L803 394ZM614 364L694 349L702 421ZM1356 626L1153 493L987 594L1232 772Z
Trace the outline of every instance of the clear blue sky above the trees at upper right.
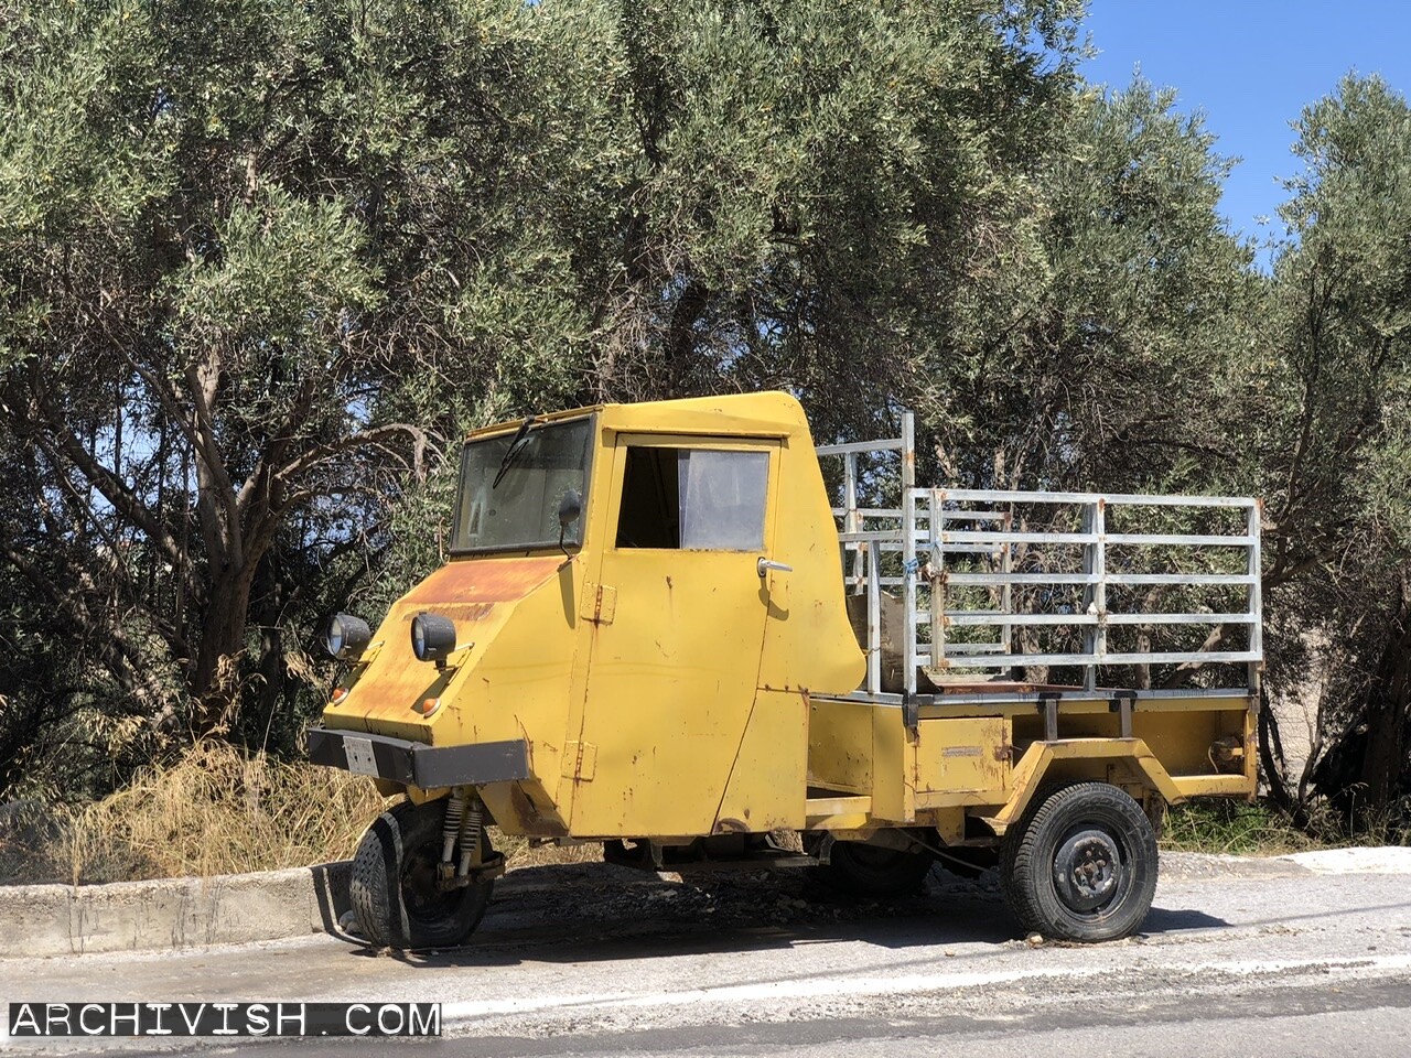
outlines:
M1243 161L1222 202L1230 229L1283 236L1280 176L1298 169L1290 121L1356 68L1411 93L1411 3L1404 0L1089 0L1086 28L1101 51L1084 63L1094 83L1122 87L1136 66L1201 110L1216 150ZM1267 216L1270 224L1256 224ZM1260 255L1266 260L1264 255Z

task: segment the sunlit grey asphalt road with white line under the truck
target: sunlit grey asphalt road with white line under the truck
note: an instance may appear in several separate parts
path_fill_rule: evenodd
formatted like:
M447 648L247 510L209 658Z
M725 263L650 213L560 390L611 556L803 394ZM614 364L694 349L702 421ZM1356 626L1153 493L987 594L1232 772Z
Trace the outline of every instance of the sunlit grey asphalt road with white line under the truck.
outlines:
M473 947L349 940L0 961L0 1000L440 1002L426 1055L1411 1054L1411 849L1377 870L1164 856L1146 931L1031 947L993 886L514 872ZM1326 868L1328 865L1318 865ZM1352 865L1357 868L1357 865ZM1363 865L1366 866L1366 865ZM0 1040L10 1052L381 1054L361 1041Z

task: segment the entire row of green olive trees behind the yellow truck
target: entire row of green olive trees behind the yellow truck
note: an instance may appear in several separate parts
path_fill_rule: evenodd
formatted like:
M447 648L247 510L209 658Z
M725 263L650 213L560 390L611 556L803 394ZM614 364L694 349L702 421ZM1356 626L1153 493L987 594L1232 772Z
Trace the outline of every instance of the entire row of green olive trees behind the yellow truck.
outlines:
M292 749L467 426L773 387L830 439L914 408L943 482L1263 495L1270 686L1338 688L1302 782L1266 725L1276 789L1411 789L1405 102L1304 113L1266 275L1081 20L0 0L0 789Z

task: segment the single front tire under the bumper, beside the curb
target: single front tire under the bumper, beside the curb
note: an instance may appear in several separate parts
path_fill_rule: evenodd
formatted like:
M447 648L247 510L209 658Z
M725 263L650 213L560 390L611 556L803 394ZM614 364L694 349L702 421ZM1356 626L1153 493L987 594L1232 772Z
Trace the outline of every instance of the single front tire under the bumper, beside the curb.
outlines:
M446 800L404 801L378 815L358 842L349 896L363 935L378 948L447 948L463 944L490 904L494 882L436 887ZM490 841L481 832L481 859Z

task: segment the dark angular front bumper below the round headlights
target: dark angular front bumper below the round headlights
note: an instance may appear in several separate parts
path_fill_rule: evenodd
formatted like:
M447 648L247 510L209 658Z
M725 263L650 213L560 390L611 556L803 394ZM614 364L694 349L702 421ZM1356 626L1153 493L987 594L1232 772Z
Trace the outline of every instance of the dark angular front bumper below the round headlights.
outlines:
M353 774L389 779L432 790L440 786L484 786L529 777L529 743L480 742L470 746L429 746L363 731L309 728L309 760Z

